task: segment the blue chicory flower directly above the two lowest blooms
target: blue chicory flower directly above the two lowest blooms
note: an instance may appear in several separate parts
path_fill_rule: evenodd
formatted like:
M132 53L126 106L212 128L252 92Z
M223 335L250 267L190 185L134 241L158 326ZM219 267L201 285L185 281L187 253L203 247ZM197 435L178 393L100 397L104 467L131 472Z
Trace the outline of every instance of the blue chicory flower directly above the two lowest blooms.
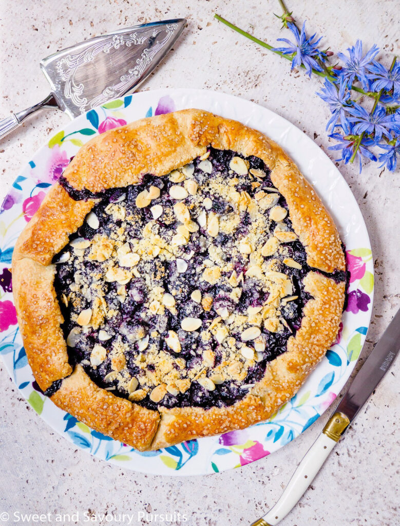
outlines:
M378 143L382 139L382 135L391 138L390 132L400 133L400 120L397 116L386 115L386 109L381 104L378 104L374 113L368 113L365 108L354 103L352 107L347 109L352 117L348 117L348 121L353 123L353 134L361 135L375 134L375 141ZM393 118L395 117L395 118Z

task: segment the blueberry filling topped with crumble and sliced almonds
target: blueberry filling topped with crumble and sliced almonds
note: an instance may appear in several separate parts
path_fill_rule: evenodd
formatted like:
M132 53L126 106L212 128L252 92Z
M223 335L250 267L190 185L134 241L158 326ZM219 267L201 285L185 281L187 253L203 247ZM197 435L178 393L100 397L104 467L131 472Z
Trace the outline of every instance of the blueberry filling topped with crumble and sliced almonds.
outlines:
M96 195L61 176L73 199L100 199L54 258L70 362L149 409L243 398L311 298L312 269L269 173L257 157L210 148Z

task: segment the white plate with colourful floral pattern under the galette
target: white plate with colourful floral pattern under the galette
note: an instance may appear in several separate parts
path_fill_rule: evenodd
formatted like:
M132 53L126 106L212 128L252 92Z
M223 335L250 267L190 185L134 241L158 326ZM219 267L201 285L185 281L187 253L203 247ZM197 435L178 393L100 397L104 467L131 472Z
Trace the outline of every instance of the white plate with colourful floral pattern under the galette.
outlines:
M96 134L132 120L176 109L203 108L259 129L278 142L311 181L339 227L351 271L350 296L334 345L300 391L268 422L222 436L140 453L89 429L43 396L34 380L17 327L11 256L17 237L48 188L79 147ZM0 210L0 355L22 395L58 433L96 457L157 474L204 474L243 466L276 451L302 433L335 400L360 355L371 318L374 286L370 240L357 203L332 161L287 120L247 100L192 89L142 92L90 110L58 131L20 172Z

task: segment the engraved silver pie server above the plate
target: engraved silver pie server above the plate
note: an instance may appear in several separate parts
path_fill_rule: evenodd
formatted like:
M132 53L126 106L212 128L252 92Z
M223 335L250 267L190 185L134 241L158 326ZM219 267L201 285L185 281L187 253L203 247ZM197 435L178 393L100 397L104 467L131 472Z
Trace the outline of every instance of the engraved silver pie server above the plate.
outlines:
M0 139L41 109L74 118L134 91L161 62L186 25L185 18L118 29L67 47L40 62L51 93L42 102L0 120Z

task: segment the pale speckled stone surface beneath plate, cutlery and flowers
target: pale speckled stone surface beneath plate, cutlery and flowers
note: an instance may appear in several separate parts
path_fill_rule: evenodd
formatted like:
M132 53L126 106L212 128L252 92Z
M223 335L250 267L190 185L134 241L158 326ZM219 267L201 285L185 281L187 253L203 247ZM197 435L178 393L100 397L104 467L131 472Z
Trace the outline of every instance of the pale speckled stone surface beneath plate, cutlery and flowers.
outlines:
M326 46L344 50L359 37L368 46L376 42L386 63L390 63L392 53L398 54L396 0L309 0L298 6L292 4L299 21L310 18L310 29L325 35ZM39 60L57 49L115 28L186 17L188 27L175 50L142 85L142 90L198 87L241 95L289 119L332 158L325 133L328 110L314 95L321 86L320 79L310 80L302 71L291 73L289 63L213 19L217 12L273 43L275 38L284 36L272 14L279 12L278 2L1 0L0 11L1 116L47 95ZM68 120L60 112L43 112L0 142L0 199L19 168ZM398 225L400 174L372 164L364 167L361 175L356 166L340 169L361 207L375 261L374 313L358 370L399 307L399 229L395 223ZM398 359L282 524L400 524L399 376ZM247 525L278 499L328 417L324 414L294 442L249 466L206 477L167 478L124 471L77 450L28 406L1 362L0 392L1 526L13 523L14 511L79 512L79 521L73 517L64 524L122 524L100 521L99 514L107 513L109 517L116 513L117 518L120 513L135 513L131 524L162 524L151 514L176 512L178 517L180 512L181 520L176 523L182 525ZM3 511L11 514L9 521L4 522ZM148 513L148 520L138 516L138 512ZM89 522L89 514L97 517ZM187 515L186 521L183 514ZM50 522L41 523L56 524L54 521L53 516Z

